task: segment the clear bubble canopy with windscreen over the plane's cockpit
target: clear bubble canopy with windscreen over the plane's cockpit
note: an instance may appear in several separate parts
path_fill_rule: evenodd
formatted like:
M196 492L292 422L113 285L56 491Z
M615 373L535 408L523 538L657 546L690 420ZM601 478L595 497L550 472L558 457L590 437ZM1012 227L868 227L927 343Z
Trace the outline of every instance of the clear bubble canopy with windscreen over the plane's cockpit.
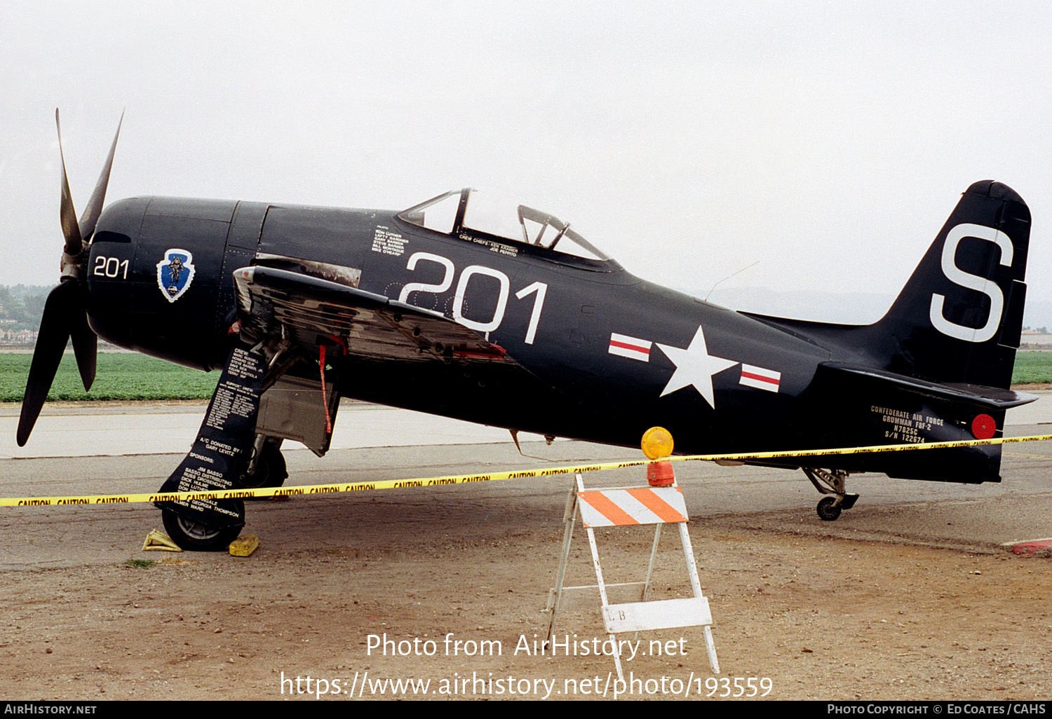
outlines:
M466 231L541 247L555 254L607 262L610 258L549 212L495 190L450 190L399 213L420 227L454 234Z

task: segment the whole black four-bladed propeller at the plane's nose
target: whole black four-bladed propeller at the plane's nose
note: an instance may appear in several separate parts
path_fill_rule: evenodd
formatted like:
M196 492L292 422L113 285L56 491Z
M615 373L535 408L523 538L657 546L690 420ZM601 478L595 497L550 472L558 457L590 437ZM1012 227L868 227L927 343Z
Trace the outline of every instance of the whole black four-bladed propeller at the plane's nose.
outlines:
M87 207L77 222L77 213L73 206L73 196L69 192L69 180L66 177L65 157L62 153L62 127L59 124L59 110L55 109L55 126L59 133L59 157L62 159L62 203L59 209L59 220L62 223L62 234L65 237L65 247L62 251L62 276L58 287L53 289L44 303L44 314L40 320L40 333L37 335L37 346L33 351L33 364L29 366L29 378L25 383L25 396L22 399L22 414L18 420L18 446L24 447L37 424L40 410L47 398L52 382L58 372L59 363L65 352L66 343L73 337L73 350L77 357L77 369L84 383L84 389L92 389L95 382L95 361L98 337L87 324L87 283L80 276L86 253L90 248L95 226L102 213L102 204L106 199L106 186L109 184L109 170L114 165L114 152L117 150L117 138L121 133L121 123L124 114L117 123L117 132L109 147L109 157L102 167L99 181L95 185Z

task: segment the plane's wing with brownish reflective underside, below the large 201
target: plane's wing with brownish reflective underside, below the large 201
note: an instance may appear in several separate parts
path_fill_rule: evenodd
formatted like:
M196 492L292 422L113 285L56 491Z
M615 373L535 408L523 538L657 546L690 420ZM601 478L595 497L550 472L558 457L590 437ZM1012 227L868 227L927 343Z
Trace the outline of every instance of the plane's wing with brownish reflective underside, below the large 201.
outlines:
M341 345L350 356L517 364L505 351L439 312L275 267L235 270L242 326L303 347Z

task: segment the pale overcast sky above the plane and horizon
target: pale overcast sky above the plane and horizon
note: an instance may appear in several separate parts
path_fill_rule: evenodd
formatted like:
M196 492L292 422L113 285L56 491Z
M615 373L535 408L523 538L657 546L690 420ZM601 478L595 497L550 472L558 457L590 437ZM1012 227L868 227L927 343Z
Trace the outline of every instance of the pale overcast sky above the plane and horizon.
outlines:
M403 208L489 186L681 288L897 293L977 180L1052 300L1047 3L0 4L0 284L109 201ZM717 297L714 295L714 300Z

